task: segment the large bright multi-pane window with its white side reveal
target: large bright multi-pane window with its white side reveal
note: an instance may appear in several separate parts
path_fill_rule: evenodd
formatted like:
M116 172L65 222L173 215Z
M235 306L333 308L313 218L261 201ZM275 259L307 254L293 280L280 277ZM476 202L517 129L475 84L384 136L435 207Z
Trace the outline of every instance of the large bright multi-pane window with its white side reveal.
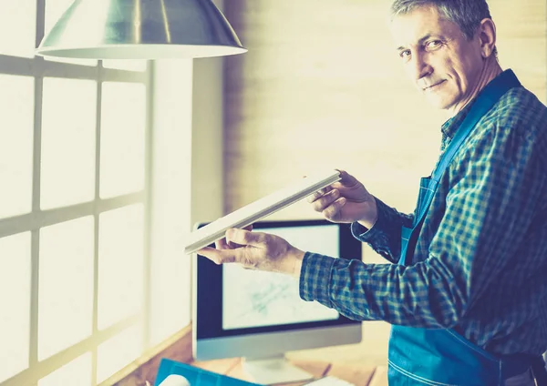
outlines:
M2 386L107 384L190 322L191 61L35 57L71 2L0 2Z

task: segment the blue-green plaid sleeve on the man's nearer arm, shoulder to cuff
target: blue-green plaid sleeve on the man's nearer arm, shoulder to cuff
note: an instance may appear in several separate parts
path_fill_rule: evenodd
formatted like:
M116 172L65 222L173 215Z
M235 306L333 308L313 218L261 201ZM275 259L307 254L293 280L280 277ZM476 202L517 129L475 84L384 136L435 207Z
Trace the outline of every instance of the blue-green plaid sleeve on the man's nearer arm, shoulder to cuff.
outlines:
M532 140L518 133L508 138L498 134L502 130L485 130L463 158L454 159L447 171L453 185L439 228L422 252L427 256L415 256L418 262L404 267L307 252L301 297L355 320L454 327L474 300L502 285L501 272L521 259L516 250L542 199L542 166L533 157ZM374 239L374 233L366 238ZM397 251L394 240L390 248Z

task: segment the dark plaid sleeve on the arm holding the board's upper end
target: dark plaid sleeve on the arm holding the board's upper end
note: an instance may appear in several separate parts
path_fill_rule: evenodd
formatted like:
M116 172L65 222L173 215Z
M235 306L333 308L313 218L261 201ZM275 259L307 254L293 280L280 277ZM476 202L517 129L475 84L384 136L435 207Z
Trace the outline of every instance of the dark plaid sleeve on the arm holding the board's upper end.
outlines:
M366 242L380 256L391 263L397 263L401 255L401 227L410 227L414 215L399 213L388 207L381 199L376 198L378 217L371 229L366 229L358 222L351 225L353 236Z

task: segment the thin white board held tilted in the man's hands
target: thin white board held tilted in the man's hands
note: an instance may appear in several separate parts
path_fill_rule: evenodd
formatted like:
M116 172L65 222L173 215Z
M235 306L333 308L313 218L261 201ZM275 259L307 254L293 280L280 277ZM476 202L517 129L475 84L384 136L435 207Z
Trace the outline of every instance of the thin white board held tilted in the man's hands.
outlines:
M234 210L232 213L218 218L205 227L191 232L184 252L190 254L198 249L207 247L213 242L222 239L227 229L243 228L253 224L272 213L294 204L296 201L306 198L317 190L325 188L340 180L337 170L301 178L293 184L275 191L268 196L257 199L251 204Z

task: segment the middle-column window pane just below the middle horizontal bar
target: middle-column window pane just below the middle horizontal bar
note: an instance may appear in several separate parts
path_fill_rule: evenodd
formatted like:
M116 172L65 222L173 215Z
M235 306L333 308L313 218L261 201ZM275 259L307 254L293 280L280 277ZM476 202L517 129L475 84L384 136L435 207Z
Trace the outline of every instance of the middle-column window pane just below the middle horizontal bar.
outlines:
M91 334L93 218L40 231L38 358L67 349Z

